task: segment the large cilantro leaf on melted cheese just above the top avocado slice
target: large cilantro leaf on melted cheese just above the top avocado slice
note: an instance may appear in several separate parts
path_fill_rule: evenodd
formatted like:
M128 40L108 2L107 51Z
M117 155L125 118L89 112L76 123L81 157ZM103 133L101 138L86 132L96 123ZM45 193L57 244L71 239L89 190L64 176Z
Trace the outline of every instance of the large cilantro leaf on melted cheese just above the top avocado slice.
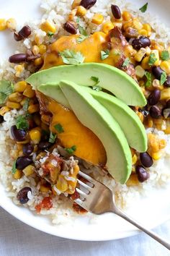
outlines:
M80 51L75 52L72 50L61 51L61 58L63 59L63 63L65 64L81 64L84 62L85 57L81 54Z

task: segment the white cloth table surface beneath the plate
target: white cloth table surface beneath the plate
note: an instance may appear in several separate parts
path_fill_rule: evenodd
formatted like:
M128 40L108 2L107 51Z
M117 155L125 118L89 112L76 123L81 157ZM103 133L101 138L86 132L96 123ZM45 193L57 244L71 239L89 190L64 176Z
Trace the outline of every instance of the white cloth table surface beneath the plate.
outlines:
M170 242L170 221L154 229ZM108 242L78 242L42 233L0 208L0 256L168 256L146 234Z

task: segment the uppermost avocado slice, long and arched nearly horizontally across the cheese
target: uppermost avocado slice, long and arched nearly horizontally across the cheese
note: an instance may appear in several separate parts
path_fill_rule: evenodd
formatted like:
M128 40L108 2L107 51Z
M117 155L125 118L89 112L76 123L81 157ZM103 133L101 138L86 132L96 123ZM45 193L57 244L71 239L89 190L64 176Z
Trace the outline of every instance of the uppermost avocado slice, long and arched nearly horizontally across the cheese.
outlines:
M36 90L38 85L47 82L58 84L61 80L94 86L95 82L91 77L96 77L100 87L109 90L129 106L146 106L146 98L137 82L122 70L107 64L84 63L52 67L32 74L26 81Z

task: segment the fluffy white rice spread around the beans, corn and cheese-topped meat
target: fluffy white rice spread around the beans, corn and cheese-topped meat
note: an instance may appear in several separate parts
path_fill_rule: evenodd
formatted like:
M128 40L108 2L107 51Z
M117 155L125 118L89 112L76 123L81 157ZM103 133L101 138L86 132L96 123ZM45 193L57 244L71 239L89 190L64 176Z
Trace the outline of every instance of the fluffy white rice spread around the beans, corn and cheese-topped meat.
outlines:
M66 22L68 14L71 11L72 0L44 0L41 4L42 15L41 20L34 20L27 22L32 28L32 35L30 38L24 40L23 43L18 43L19 48L15 53L22 53L27 49L30 49L31 43L35 40L35 35L39 35L40 43L47 42L49 40L46 33L40 30L39 25L45 20L53 21L57 25L58 36L68 35L68 33L63 30L63 24ZM94 25L91 23L91 18L94 13L100 12L104 16L104 20L110 20L110 5L113 3L111 0L97 0L97 4L94 5L86 13L84 20L80 19L80 25L86 28L88 34L94 33L100 30L100 25ZM117 4L120 9L128 10L134 16L140 16L142 22L150 23L155 33L152 33L151 38L156 39L158 42L163 42L168 45L170 42L170 30L164 25L158 22L156 17L150 15L148 12L145 14L139 12L138 8L133 4L125 3L125 1L115 0L114 4ZM14 74L16 73L14 64L1 63L0 66L0 79L3 77L6 80L14 81ZM20 75L20 79L27 78L30 75L30 71L24 70ZM42 199L48 196L48 193L40 192L40 183L35 183L34 176L23 176L22 179L14 180L12 177L12 164L14 161L14 155L16 153L16 145L12 140L10 134L10 127L15 123L15 119L18 115L23 114L22 111L12 110L4 115L4 123L0 125L0 180L1 183L6 188L7 195L12 198L13 202L19 205L17 200L17 192L23 187L30 187L32 192L28 192L28 198L30 199L24 207L30 208L30 210L35 211L35 206L42 201ZM128 208L133 205L133 202L140 200L141 197L148 196L153 187L160 188L168 186L170 183L170 135L165 135L164 132L158 131L157 129L147 129L146 132L152 132L158 135L160 139L166 140L166 148L163 150L163 155L159 161L154 161L153 166L148 168L150 173L150 179L147 182L141 183L138 186L128 187L126 184L117 184L114 179L109 178L109 176L97 175L96 179L102 182L112 190L115 195L115 200L120 208ZM43 160L42 160L43 161ZM68 171L63 171L66 175L66 179L70 180L68 177ZM48 216L54 224L66 223L66 221L74 221L78 214L71 210L72 202L68 200L67 197L59 197L60 191L54 187L57 195L53 198L53 208L50 210L41 210L40 214ZM94 218L90 213L87 213L89 218ZM95 216L95 218L98 218Z

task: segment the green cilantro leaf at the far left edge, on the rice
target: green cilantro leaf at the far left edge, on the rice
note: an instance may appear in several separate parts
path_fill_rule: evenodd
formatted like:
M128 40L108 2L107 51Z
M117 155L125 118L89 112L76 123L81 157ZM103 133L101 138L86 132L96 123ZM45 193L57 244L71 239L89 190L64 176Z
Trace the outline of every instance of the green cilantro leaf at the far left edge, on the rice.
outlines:
M8 96L13 93L14 85L7 80L0 81L0 105L6 102Z

